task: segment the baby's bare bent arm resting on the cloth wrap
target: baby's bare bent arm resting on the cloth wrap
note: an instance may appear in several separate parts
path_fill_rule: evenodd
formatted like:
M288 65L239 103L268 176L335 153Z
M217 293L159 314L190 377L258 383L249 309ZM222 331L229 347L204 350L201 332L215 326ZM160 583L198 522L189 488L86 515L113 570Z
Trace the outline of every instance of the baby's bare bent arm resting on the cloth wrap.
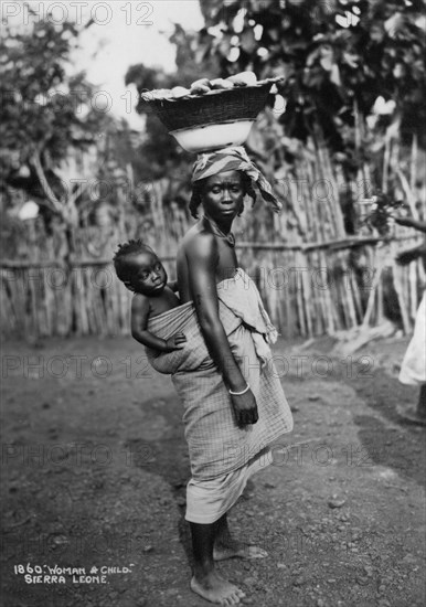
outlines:
M158 338L147 330L149 316L149 299L136 294L131 300L131 336L148 348L160 352L172 352L183 348L187 338L183 333L175 333L168 340Z

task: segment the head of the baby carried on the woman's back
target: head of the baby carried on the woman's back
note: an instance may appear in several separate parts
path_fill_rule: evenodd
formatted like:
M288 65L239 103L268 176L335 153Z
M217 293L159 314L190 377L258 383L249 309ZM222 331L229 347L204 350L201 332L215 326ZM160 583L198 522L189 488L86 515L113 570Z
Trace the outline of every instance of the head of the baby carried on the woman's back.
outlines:
M142 241L129 241L118 245L114 267L126 287L147 296L156 296L167 285L167 274L155 252Z

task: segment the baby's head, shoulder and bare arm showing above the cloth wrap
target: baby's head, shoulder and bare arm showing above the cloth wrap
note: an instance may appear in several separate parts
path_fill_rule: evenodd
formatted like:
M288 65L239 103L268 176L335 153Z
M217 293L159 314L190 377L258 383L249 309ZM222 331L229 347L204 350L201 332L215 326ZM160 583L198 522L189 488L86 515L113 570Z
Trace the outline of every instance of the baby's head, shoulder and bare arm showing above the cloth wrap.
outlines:
M181 350L187 341L182 332L164 340L147 330L149 318L180 306L174 295L178 283L167 281L166 269L155 252L140 239L129 241L118 245L113 260L118 278L135 292L131 301L132 337L160 352Z

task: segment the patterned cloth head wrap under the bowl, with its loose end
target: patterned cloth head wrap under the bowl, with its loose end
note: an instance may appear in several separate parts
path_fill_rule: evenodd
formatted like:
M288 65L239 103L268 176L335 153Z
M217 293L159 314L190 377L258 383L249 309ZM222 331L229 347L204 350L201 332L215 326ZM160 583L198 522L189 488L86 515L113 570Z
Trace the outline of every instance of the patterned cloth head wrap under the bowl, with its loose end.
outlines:
M192 170L192 183L225 171L243 171L251 178L252 183L257 185L262 198L273 205L275 212L283 209L283 204L275 196L270 183L248 158L243 146L199 155Z

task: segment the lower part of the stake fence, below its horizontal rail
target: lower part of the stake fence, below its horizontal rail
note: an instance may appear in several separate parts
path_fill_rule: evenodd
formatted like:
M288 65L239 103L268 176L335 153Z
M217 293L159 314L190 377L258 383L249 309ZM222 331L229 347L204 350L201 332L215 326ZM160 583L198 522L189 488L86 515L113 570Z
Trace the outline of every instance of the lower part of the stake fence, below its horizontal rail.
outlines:
M418 262L400 267L393 259L415 243L412 236L387 244L379 238L305 246L241 242L237 256L284 337L333 333L390 315L409 332L425 275ZM156 247L170 278L175 277L175 246L162 241ZM127 334L130 299L110 257L79 258L71 266L43 259L1 263L7 337Z

